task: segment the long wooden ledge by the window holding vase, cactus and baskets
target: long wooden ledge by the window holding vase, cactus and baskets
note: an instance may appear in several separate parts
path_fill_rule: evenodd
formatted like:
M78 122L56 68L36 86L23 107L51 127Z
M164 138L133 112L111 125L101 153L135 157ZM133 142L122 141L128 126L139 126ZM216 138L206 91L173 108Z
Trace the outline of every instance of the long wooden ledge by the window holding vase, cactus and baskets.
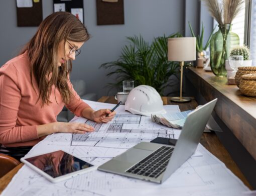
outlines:
M218 98L215 112L256 160L256 98L242 95L226 77L203 69L188 68L186 77L207 101Z

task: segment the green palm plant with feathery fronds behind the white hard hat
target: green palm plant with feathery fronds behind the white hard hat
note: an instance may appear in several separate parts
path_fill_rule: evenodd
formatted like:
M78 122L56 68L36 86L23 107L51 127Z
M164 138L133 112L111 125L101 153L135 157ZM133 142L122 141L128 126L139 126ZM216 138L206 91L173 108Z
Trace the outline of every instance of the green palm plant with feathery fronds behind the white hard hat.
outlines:
M164 89L172 84L170 77L179 73L179 64L167 59L167 39L181 36L174 33L155 37L151 44L141 35L126 37L130 43L122 47L119 59L100 66L111 69L107 76L116 76L116 82L109 85L119 87L123 80L132 79L135 85L150 85L163 95Z

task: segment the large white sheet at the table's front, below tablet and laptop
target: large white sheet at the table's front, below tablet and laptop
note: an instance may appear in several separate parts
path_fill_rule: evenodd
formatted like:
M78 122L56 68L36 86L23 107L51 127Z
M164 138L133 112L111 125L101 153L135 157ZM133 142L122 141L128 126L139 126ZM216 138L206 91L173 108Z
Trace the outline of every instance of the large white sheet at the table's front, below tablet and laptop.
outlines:
M248 188L201 144L200 157L189 158L163 184L92 171L51 183L26 165L3 195L241 195ZM99 165L109 158L87 157Z

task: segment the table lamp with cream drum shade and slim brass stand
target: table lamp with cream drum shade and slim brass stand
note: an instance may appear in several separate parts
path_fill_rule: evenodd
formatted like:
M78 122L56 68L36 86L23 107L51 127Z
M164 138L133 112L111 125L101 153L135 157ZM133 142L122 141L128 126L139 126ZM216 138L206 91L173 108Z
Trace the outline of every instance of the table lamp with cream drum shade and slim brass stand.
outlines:
M171 101L188 102L189 97L182 97L182 79L184 61L196 60L196 37L168 38L168 60L180 61L180 97L172 97Z

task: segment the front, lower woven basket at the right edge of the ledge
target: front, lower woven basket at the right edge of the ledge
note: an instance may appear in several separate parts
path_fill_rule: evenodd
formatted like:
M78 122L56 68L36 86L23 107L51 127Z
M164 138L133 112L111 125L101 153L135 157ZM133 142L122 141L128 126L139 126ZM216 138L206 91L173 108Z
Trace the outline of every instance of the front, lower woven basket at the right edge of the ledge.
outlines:
M256 73L242 75L239 88L242 94L256 96Z

